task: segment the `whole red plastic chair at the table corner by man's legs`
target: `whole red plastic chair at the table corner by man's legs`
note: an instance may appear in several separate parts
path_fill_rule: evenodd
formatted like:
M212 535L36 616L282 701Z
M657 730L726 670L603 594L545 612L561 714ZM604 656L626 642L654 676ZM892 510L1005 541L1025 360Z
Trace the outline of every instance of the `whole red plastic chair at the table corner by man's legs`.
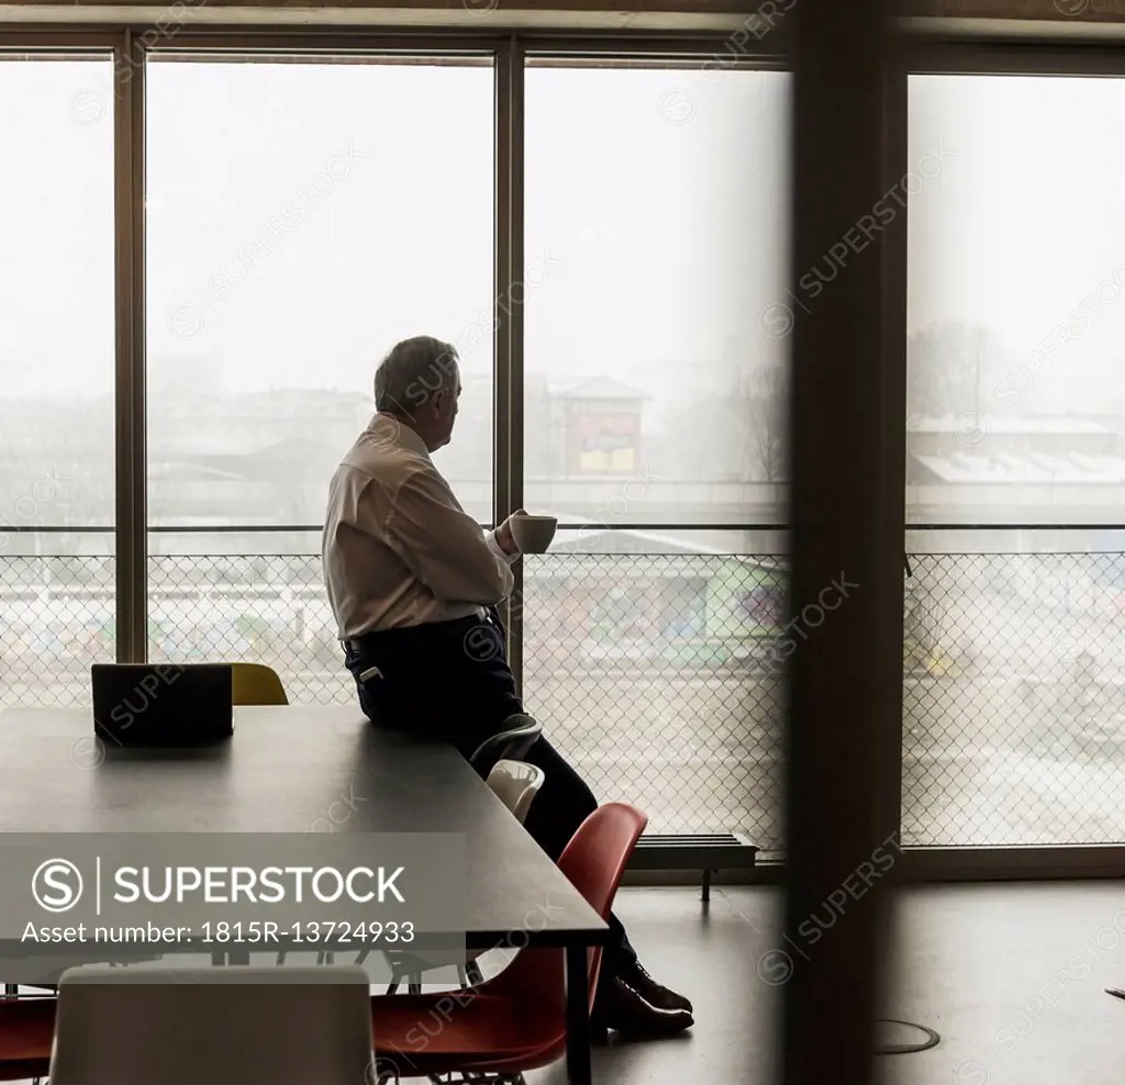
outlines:
M559 869L602 919L648 816L610 803L594 811L559 857ZM601 947L587 955L594 1006ZM372 995L377 1085L399 1077L461 1072L519 1078L566 1051L566 983L561 949L524 948L498 976L432 995Z

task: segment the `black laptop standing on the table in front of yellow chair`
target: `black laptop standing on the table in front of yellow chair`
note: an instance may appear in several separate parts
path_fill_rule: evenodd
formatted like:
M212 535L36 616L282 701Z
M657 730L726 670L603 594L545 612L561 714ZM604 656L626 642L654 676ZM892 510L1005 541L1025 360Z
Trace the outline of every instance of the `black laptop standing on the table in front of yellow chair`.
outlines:
M226 663L94 663L93 730L108 745L196 747L234 733Z

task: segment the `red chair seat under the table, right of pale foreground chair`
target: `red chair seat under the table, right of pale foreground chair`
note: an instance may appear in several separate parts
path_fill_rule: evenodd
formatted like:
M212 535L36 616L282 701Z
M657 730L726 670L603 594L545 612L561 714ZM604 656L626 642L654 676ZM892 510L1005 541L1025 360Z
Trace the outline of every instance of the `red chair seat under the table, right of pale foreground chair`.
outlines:
M444 1074L453 1066L500 1073L510 1065L534 1069L565 1047L558 1010L537 1013L508 997L472 991L442 995L375 995L371 1029L377 1059L402 1076Z

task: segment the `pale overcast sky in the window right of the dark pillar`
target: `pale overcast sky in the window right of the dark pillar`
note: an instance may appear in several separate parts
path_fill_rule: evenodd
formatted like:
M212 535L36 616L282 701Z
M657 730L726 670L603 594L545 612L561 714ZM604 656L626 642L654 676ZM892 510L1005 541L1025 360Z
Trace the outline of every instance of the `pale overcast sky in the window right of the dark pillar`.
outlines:
M1041 370L1058 413L1125 407L1122 116L1120 80L910 83L911 159L943 141L956 153L911 205L910 329L979 325L1018 365L1100 286L1089 329ZM1107 286L1117 269L1120 286Z

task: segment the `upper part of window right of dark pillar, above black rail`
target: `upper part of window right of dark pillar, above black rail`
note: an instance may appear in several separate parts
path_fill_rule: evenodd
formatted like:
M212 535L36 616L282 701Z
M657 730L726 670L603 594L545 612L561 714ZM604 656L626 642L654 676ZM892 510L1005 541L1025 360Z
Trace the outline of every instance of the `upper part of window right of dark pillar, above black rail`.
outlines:
M946 151L910 208L914 524L1098 524L1120 506L1123 105L1123 80L910 81L911 159Z

